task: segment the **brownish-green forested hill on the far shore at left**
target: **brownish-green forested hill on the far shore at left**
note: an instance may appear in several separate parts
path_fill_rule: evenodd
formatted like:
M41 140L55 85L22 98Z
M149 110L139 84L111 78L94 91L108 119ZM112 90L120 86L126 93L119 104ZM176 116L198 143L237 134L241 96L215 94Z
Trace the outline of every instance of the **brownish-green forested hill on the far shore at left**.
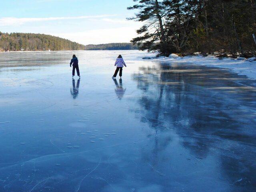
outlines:
M0 32L0 51L84 50L84 45L67 39L32 33Z

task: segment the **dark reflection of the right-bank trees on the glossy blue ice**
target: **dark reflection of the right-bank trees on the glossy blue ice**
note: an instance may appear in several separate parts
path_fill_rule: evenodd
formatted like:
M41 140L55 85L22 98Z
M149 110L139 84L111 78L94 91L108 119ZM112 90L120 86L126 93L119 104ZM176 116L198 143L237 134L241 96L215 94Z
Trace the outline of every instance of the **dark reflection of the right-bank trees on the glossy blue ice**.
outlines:
M198 161L219 156L212 163L232 181L231 191L256 190L255 81L225 69L175 63L140 67L133 80L143 91L142 122L157 134L175 130ZM154 142L155 156L172 144L169 137Z

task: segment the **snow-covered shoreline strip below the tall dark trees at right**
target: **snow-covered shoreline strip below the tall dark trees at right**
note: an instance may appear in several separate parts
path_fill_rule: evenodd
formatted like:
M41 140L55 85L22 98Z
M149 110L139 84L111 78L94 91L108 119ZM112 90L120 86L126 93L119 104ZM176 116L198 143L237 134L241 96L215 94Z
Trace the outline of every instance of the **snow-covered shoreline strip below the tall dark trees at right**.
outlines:
M184 56L184 57L146 57L148 60L158 62L185 62L203 66L214 66L218 68L227 68L239 75L246 75L250 79L256 79L256 61L237 60L232 58L217 58L214 56Z

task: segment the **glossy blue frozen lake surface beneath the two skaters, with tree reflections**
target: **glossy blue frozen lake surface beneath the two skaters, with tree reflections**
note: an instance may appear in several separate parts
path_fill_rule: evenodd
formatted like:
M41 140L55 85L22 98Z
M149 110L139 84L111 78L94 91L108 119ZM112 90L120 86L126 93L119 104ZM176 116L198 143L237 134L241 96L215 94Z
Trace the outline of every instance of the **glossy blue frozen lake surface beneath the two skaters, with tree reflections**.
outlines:
M0 53L0 192L256 191L256 82L146 55Z

